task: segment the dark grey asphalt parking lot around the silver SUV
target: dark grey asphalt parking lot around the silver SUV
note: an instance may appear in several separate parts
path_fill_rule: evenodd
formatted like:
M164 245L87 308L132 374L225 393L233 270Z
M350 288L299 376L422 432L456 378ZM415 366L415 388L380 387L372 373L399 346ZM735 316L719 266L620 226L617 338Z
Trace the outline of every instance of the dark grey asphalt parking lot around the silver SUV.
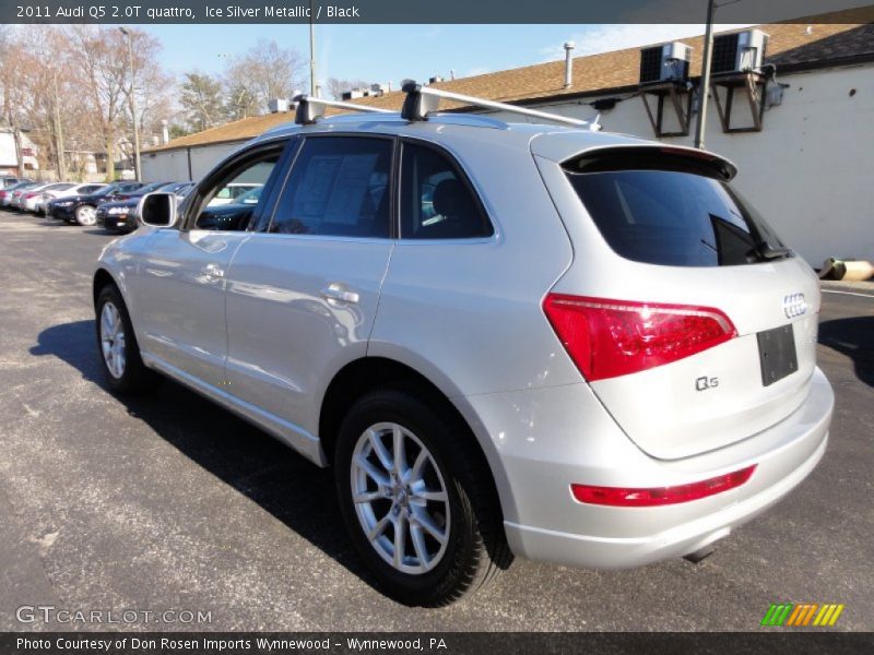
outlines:
M756 630L777 602L842 603L837 629L874 630L874 293L824 294L825 460L713 556L517 560L486 593L425 610L368 584L330 472L175 383L106 391L90 294L111 238L0 212L0 630L58 629L21 623L22 605L211 612L126 626L158 630Z

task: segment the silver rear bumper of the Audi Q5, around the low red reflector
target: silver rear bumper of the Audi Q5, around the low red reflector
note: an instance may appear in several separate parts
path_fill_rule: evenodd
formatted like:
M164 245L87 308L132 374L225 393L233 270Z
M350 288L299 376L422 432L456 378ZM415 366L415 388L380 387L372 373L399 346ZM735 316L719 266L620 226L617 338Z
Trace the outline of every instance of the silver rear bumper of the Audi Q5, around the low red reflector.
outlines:
M571 391L572 390L572 391ZM531 392L518 392L531 393ZM538 392L544 394L546 390ZM531 429L523 441L512 439L505 422L497 441L505 467L501 502L505 529L512 551L521 557L555 563L627 568L699 550L767 510L796 487L825 453L834 409L834 393L825 376L815 370L805 403L778 425L716 451L675 461L656 460L634 446L607 421L583 419L594 406L582 389L554 390L555 401L541 395L540 409L527 414L517 397L513 409ZM498 394L503 395L503 394ZM569 405L576 395L576 406ZM505 398L506 400L506 398ZM492 396L487 403L494 403ZM563 402L576 416L574 434L567 417L555 420L553 402ZM476 405L474 400L473 404ZM599 407L600 408L600 407ZM481 413L483 410L484 413ZM601 414L606 414L600 408ZM492 422L477 407L483 424ZM536 415L536 416L535 416ZM540 420L542 419L542 420ZM572 420L572 419L571 419ZM576 422L576 421L575 421ZM613 422L610 419L610 422ZM615 426L615 424L613 424ZM586 426L580 428L579 426ZM536 446L534 444L538 444ZM755 464L744 485L692 502L654 508L614 508L583 504L570 485L664 487L699 481ZM500 481L498 483L500 487Z

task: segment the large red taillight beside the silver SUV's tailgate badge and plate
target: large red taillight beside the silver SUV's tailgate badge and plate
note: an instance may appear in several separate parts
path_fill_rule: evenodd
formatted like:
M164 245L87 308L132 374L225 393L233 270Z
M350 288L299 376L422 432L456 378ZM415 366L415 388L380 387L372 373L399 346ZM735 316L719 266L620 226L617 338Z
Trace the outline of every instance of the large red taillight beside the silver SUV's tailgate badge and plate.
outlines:
M543 311L587 380L670 364L737 335L718 309L550 294Z

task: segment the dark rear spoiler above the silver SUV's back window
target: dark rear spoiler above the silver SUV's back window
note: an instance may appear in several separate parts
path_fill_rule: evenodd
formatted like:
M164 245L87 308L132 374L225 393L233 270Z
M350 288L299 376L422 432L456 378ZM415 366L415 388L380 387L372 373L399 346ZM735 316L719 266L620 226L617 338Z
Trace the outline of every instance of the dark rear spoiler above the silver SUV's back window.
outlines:
M609 170L675 170L729 181L737 167L708 151L677 145L622 144L586 150L562 162L568 172Z

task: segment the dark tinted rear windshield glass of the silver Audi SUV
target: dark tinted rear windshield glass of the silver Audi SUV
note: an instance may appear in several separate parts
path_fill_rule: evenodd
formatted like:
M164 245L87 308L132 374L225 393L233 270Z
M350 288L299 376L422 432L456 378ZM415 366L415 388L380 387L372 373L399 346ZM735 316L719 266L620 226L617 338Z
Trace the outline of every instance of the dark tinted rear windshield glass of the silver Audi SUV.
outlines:
M610 247L647 264L732 266L791 257L728 183L682 170L567 172Z

